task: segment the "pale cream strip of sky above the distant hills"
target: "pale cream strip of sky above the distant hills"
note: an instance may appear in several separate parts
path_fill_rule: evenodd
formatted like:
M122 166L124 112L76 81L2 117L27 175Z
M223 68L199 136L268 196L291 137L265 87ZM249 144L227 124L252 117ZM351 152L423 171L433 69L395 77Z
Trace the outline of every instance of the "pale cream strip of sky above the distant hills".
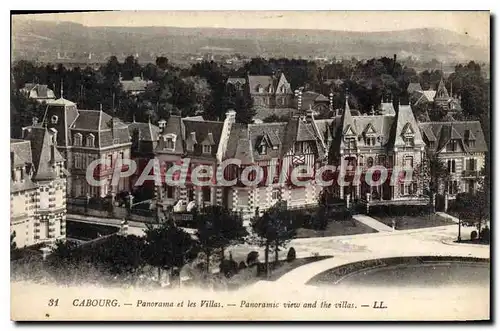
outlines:
M216 28L392 31L443 28L482 43L490 36L487 11L115 11L26 15L86 26L175 26Z

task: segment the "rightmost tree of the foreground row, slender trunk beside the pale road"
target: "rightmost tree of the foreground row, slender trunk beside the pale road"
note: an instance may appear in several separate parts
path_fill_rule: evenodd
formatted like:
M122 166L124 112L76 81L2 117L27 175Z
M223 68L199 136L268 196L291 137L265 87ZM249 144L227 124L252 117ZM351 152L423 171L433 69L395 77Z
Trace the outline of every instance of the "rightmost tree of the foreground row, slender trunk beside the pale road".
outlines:
M296 225L287 210L285 201L278 201L274 206L264 212L262 216L256 216L252 220L253 232L258 236L258 244L265 247L264 263L266 276L269 277L269 251L274 247L275 261L278 261L280 247L295 237Z

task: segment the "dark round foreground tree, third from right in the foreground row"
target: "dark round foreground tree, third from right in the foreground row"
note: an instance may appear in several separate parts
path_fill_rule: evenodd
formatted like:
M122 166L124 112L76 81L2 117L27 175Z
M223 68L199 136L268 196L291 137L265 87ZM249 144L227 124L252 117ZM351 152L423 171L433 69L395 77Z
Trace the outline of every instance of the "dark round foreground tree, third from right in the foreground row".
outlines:
M158 281L162 270L170 270L173 279L184 265L198 256L197 241L189 233L174 226L172 221L157 226L148 225L145 232L144 256L150 265L158 268Z

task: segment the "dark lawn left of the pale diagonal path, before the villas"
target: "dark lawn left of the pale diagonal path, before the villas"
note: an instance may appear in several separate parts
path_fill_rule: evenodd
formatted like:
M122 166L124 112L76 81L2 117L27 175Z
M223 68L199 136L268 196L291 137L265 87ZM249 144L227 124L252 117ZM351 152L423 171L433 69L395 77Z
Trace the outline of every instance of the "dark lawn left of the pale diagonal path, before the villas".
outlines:
M345 221L330 221L325 230L300 228L297 230L297 238L334 237L375 232L377 230L351 218Z

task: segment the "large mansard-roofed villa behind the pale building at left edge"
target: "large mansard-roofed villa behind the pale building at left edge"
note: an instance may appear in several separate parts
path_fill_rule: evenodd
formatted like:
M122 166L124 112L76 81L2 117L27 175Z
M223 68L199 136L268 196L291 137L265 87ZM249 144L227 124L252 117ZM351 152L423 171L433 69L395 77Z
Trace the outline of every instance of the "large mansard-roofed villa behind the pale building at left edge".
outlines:
M105 197L128 190L129 178L120 178L112 185L116 162L130 158L132 143L125 123L102 109L78 109L75 103L60 98L47 103L42 122L23 128L24 135L45 126L54 132L57 149L66 160L70 197ZM103 184L93 186L85 176L89 165L98 159L101 165L95 169L94 178Z

